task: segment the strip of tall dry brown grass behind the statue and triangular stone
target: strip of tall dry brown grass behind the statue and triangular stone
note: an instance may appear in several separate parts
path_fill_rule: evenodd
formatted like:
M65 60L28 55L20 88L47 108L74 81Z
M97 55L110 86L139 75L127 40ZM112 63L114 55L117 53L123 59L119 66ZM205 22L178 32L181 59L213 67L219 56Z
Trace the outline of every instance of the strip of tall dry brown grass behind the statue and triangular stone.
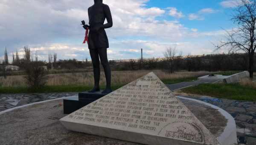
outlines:
M112 84L128 84L151 71L113 71ZM178 78L192 78L202 75L207 75L209 72L175 72L168 74L161 70L153 71L161 80L178 79ZM93 86L93 73L63 73L63 74L50 74L47 81L48 86L56 85L87 85ZM105 75L101 72L100 85L105 85ZM26 82L23 76L9 76L7 79L0 77L0 86L2 87L26 87Z

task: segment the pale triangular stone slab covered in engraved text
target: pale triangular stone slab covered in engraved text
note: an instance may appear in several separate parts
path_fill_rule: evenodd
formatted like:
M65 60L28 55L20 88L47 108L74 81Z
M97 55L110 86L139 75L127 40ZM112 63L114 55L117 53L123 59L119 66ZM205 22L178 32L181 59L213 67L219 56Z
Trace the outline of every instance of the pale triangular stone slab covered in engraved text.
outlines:
M60 121L71 131L146 145L221 145L154 73Z

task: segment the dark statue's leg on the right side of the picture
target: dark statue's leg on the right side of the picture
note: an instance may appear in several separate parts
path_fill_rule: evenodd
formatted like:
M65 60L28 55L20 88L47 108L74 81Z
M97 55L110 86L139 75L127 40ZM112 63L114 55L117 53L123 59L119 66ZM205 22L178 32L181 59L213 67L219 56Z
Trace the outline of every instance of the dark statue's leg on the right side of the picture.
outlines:
M107 56L107 48L98 49L99 58L104 68L105 76L106 76L106 89L102 93L111 93L111 70L108 64L108 56Z

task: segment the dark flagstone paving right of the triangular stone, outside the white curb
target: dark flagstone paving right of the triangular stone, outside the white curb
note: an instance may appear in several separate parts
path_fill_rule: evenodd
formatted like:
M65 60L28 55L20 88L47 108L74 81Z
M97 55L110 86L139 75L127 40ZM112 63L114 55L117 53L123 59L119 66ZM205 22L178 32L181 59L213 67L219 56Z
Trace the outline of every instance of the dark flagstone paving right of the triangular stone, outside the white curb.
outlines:
M196 96L183 97L198 99L226 110L236 121L239 143L245 145L256 145L256 102Z

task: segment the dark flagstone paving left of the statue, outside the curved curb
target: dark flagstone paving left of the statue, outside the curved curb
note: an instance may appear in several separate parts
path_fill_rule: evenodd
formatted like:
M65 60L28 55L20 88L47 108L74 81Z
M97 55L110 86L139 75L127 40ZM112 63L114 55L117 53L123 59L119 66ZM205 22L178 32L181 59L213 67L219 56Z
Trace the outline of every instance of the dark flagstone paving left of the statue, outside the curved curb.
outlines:
M0 94L0 111L34 102L69 97L77 94L78 93Z

